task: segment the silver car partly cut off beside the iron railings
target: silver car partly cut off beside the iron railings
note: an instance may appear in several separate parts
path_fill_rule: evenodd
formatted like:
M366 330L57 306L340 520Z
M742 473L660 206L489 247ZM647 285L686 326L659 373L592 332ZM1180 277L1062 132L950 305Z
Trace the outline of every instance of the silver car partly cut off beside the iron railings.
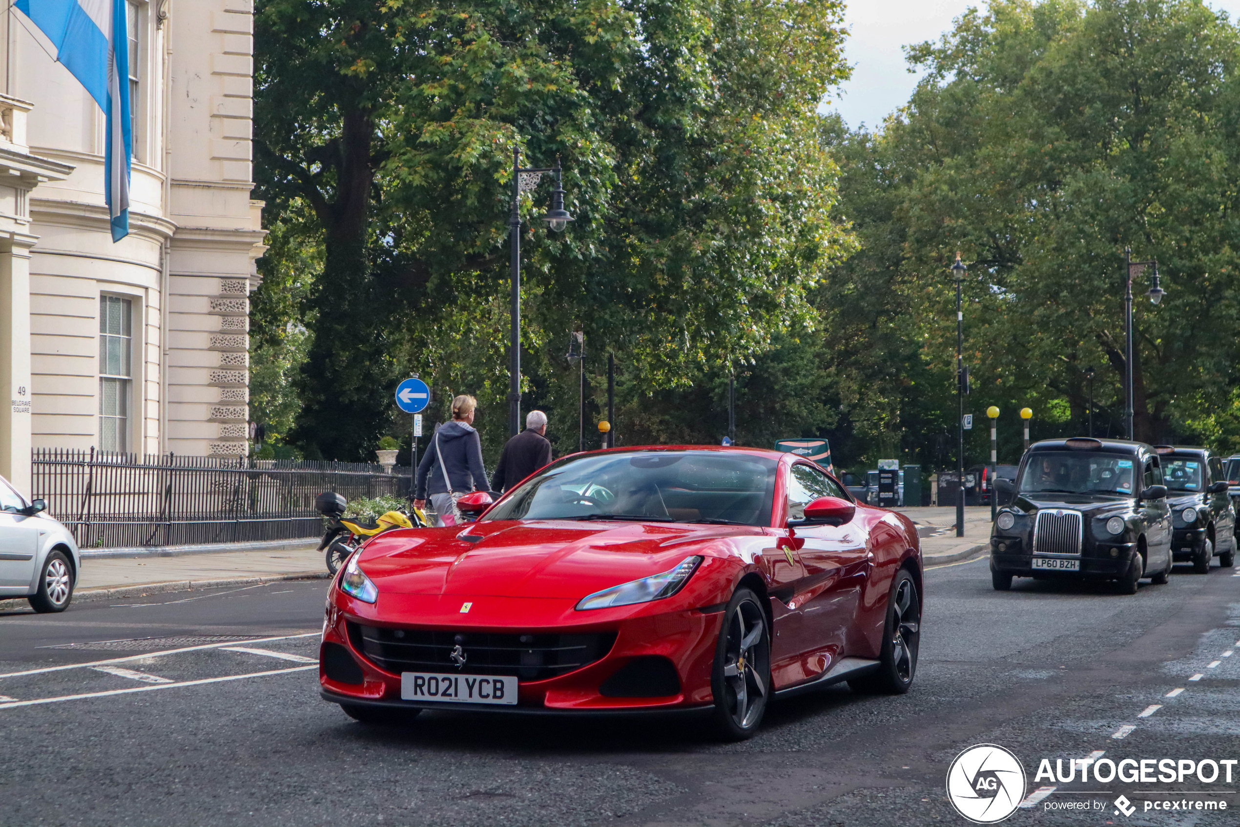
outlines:
M35 611L64 611L82 558L73 534L0 477L0 598L26 598Z

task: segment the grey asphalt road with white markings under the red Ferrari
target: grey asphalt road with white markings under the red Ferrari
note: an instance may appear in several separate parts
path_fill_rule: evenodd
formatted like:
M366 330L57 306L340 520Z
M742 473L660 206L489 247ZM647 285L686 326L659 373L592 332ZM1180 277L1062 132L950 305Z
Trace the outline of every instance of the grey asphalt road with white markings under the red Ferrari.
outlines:
M909 694L787 701L740 744L645 718L353 723L316 693L324 588L0 615L0 825L965 825L944 784L978 743L1011 749L1028 791L1055 787L1004 825L1240 823L1234 810L1143 810L1240 808L1240 766L1230 785L1033 777L1043 758L1096 751L1240 759L1240 572L1178 567L1120 596L1030 580L996 593L985 560L934 569ZM1069 801L1105 808L1048 810Z

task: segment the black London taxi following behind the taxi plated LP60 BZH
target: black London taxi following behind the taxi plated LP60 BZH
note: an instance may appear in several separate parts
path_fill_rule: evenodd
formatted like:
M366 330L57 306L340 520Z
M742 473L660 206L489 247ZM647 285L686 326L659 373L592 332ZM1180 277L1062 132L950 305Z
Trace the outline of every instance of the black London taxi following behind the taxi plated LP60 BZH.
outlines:
M1236 554L1236 510L1228 496L1223 458L1205 448L1156 445L1172 512L1172 557L1192 560L1205 574L1215 555L1231 568Z

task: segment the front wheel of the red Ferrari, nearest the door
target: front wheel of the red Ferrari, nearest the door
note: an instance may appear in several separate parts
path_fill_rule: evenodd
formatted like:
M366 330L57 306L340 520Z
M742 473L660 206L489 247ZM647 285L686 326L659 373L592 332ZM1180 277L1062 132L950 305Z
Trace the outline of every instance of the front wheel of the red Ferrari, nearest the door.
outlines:
M714 729L727 740L758 732L771 687L771 636L758 595L737 589L723 615L714 648L711 692Z

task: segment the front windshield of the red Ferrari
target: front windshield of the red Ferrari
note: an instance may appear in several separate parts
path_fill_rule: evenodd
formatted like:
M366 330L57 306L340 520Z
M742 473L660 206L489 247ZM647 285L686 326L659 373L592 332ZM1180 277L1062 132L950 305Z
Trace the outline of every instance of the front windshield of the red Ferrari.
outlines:
M634 451L557 462L485 517L769 526L779 461L724 451Z

